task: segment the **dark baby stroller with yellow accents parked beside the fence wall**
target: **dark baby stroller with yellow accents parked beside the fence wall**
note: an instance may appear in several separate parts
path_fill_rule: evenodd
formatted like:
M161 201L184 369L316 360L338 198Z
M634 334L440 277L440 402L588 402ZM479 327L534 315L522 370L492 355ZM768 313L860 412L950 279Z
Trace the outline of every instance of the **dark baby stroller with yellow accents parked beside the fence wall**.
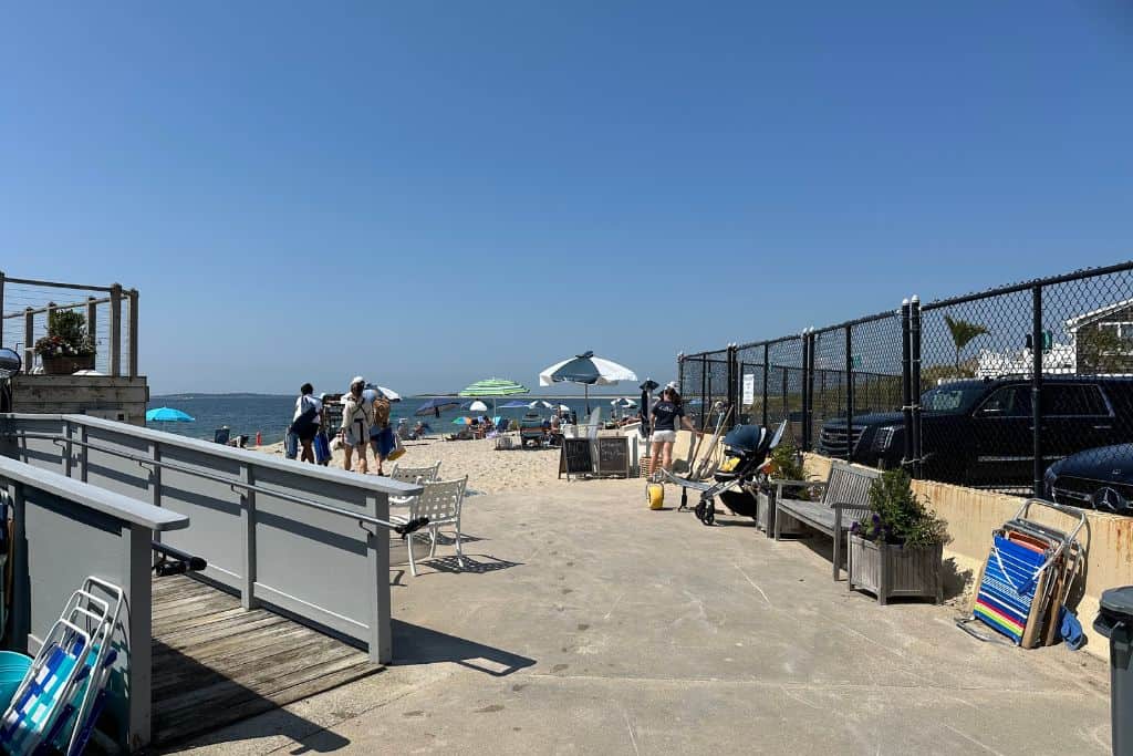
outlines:
M756 483L767 455L783 440L784 421L772 434L758 425L736 425L724 436L724 461L713 475L713 483L679 478L671 473L670 481L681 486L681 509L688 509L688 490L700 492L693 511L705 525L716 521L716 496L739 517L756 517Z

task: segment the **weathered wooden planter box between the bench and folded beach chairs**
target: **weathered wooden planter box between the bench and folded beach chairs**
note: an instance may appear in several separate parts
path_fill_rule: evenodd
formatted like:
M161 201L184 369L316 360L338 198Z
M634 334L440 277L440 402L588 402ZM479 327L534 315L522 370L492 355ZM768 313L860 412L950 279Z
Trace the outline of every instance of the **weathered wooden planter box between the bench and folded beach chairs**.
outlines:
M858 588L872 593L883 605L894 596L927 597L939 604L944 598L943 560L944 544L905 549L851 535L846 551L850 576L846 585L850 591Z

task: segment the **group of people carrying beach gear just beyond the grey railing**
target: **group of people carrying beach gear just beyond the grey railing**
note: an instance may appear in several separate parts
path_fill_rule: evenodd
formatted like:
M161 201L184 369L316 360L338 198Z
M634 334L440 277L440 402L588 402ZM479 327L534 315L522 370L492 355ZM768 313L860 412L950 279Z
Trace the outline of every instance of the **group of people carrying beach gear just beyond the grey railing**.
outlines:
M286 452L288 458L298 457L305 462L325 466L332 458L329 413L324 406L327 394L317 398L314 394L310 383L300 387ZM377 389L366 388L366 379L360 375L350 381L350 389L342 397L342 423L335 440L342 447L342 468L347 470L355 469L357 456L357 470L368 473L367 457L373 452L377 474L385 475L385 461L400 456L397 436L390 426L390 400Z

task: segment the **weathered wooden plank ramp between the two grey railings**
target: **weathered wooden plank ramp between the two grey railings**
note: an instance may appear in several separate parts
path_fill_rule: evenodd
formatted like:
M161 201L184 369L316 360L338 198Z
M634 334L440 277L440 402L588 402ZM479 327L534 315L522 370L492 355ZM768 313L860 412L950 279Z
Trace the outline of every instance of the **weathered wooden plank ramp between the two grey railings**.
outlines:
M153 733L169 745L373 674L366 652L186 576L153 580Z

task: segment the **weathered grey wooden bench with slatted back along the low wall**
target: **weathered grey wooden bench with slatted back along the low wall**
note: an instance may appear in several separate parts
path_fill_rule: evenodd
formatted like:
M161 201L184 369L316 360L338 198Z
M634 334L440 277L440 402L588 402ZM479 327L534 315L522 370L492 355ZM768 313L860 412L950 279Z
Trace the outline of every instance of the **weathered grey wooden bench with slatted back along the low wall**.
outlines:
M854 520L869 517L869 489L880 476L879 470L834 460L830 462L830 475L825 483L773 478L772 483L776 485L775 540L780 540L784 513L834 538L834 579L837 580L842 569L842 546L846 533ZM784 495L784 489L790 487L821 489L823 498L819 501L791 499Z

